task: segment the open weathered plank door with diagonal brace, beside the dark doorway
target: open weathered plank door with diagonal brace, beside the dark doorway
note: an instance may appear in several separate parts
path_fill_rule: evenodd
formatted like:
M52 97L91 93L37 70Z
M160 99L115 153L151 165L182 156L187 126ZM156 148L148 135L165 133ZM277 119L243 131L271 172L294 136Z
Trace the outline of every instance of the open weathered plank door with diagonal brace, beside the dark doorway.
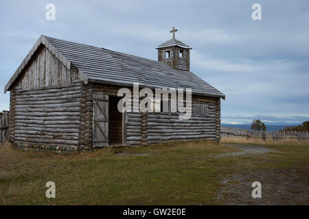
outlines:
M93 94L93 147L108 146L108 95Z

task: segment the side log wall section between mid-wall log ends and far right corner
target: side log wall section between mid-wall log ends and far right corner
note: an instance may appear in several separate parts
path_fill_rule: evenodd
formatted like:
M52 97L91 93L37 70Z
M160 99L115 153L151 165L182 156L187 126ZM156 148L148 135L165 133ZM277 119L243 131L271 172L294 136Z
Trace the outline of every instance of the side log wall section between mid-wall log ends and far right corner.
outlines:
M197 112L196 105L207 106L207 112ZM189 120L179 120L179 114L174 113L148 113L148 144L198 139L218 140L220 132L217 132L216 108L216 99L192 96L192 117Z

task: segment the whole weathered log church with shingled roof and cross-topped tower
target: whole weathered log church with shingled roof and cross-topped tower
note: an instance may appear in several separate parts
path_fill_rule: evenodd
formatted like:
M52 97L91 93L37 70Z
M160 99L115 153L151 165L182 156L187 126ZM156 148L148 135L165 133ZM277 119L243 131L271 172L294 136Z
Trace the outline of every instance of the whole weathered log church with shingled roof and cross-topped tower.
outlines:
M5 86L10 91L10 142L58 152L102 146L220 140L225 94L190 72L190 48L174 37L158 61L41 36ZM119 112L120 88L191 88L192 116Z

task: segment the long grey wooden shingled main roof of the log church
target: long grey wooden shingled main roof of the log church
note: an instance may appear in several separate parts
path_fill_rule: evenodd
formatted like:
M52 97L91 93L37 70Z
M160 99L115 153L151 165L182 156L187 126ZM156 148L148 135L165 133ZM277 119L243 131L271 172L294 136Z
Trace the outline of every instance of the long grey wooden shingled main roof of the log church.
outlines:
M5 92L10 90L12 83L19 77L41 44L52 51L67 68L71 68L72 65L78 68L80 79L84 83L108 83L119 86L133 86L133 83L139 83L140 87L149 88L192 88L192 94L225 99L225 94L190 71L177 70L162 62L135 55L43 35L5 86Z

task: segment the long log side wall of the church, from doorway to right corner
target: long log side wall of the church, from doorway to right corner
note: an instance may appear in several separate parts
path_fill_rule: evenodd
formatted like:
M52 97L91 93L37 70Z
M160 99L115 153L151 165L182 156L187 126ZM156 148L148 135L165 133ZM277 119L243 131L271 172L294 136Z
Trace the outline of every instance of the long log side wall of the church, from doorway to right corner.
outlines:
M93 84L94 92L117 95L120 86ZM133 90L131 93L133 94ZM133 102L132 102L133 104ZM207 105L207 114L196 112L196 105ZM148 145L184 140L220 140L220 99L192 96L192 118L179 120L175 113L126 113L126 145Z

